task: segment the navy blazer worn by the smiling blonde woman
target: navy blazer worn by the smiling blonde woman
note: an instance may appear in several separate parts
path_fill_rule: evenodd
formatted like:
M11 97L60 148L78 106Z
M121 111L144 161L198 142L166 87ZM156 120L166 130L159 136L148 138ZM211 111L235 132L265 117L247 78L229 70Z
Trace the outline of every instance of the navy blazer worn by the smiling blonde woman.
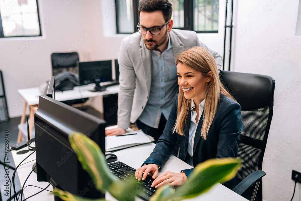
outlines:
M198 107L198 106L197 106ZM172 110L166 122L163 134L157 141L151 155L143 163L154 163L162 167L169 158L170 154L185 161L186 157L191 157L187 153L189 127L191 122L191 109L186 119L188 129L185 129L185 135L173 133L172 128L178 113L178 94L175 97ZM224 94L220 94L218 107L214 116L213 122L209 128L207 139L204 140L201 136L201 128L203 125L203 113L197 125L194 138L192 161L194 167L200 162L212 158L237 157L237 149L239 144L239 136L242 131L243 124L240 115L240 105ZM191 174L192 169L182 170L187 177ZM226 182L226 187L233 189L238 184L237 176Z

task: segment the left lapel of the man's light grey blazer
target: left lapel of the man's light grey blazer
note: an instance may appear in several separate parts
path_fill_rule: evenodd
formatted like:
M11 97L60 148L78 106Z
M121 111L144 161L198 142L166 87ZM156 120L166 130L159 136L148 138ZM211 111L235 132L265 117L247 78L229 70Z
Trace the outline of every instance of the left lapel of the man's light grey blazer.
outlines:
M143 39L141 37L140 40L140 58L141 58L141 65L143 67L143 72L144 72L144 80L145 80L145 84L147 86L147 90L148 90L148 94L151 91L151 51L148 50L145 47L145 44L143 42ZM146 76L147 75L147 76Z

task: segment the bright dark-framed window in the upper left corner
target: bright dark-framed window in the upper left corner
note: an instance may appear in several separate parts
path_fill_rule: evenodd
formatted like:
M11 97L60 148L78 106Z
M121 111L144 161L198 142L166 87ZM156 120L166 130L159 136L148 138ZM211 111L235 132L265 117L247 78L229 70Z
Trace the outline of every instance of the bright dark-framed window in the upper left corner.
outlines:
M0 38L42 36L37 0L0 0Z

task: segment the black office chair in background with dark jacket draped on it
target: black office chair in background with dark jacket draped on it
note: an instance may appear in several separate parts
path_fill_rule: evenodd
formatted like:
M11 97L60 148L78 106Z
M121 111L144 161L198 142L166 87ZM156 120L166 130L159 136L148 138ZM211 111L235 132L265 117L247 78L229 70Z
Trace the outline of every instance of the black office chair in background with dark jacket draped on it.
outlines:
M79 61L77 52L51 54L52 76L55 76L56 91L72 90L74 86L78 85L77 61ZM73 105L84 103L86 100L88 100L88 98L62 102Z

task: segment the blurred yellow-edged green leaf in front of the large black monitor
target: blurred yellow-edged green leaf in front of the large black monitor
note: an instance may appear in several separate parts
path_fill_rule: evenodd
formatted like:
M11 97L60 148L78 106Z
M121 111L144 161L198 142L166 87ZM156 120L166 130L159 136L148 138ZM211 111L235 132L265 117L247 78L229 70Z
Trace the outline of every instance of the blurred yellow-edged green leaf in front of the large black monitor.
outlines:
M71 147L75 151L82 168L88 172L93 179L95 188L102 193L108 191L118 200L134 200L136 182L124 184L110 172L106 165L104 154L99 146L81 133L73 132L69 136Z

